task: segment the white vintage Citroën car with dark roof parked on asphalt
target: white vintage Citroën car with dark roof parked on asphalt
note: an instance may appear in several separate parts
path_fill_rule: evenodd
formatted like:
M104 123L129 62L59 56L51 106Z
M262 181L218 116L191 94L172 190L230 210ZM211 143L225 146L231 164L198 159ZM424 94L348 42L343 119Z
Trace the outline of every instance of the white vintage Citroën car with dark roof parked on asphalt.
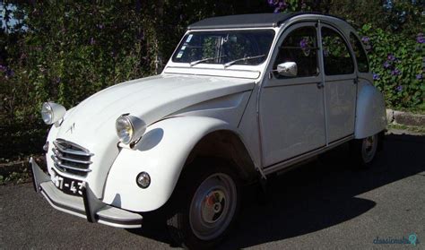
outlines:
M355 30L307 13L195 22L160 75L41 114L48 174L30 164L48 203L119 228L163 211L158 223L193 248L229 231L244 184L344 142L368 165L386 128Z

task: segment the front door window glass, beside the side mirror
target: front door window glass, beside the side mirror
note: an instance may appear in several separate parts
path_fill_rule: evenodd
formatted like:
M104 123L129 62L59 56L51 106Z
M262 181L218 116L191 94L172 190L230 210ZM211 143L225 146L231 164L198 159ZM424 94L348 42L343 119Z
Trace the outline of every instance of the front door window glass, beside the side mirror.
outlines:
M288 34L279 47L279 54L273 68L286 62L297 64L298 77L316 76L318 74L316 28L302 27ZM284 78L280 75L276 75L276 77Z

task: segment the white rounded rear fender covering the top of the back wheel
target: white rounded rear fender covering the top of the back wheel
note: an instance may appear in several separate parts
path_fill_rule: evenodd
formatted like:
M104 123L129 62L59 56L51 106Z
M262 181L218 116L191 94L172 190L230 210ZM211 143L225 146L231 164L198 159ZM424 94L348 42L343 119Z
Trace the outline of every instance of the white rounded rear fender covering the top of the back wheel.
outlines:
M383 95L371 84L362 84L357 97L354 138L362 139L386 128L386 104Z

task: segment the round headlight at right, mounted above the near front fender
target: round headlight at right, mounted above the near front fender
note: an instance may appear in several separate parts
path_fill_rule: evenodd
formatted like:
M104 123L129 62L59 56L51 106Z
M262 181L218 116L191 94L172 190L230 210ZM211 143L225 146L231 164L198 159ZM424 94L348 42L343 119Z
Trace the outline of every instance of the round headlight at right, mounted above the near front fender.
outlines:
M146 124L139 117L122 115L117 118L115 129L119 141L130 144L142 137L146 131Z

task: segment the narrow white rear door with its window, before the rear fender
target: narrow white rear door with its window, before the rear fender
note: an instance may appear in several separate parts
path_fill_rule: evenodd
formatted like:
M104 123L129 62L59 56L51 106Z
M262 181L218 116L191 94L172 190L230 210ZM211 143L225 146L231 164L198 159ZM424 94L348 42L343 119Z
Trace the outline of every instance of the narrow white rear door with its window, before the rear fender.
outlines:
M323 23L319 30L325 71L327 142L332 143L354 133L357 75L343 35Z

